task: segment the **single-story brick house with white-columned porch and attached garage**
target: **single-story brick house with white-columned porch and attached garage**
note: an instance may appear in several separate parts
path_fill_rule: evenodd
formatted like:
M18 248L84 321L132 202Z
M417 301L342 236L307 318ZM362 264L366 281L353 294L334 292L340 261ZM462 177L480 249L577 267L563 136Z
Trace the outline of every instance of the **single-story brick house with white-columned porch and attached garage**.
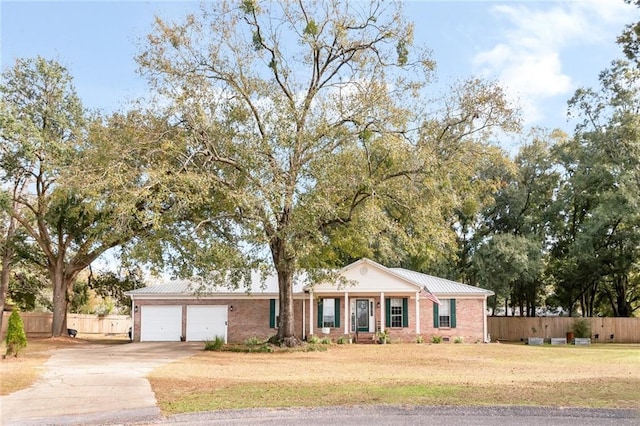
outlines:
M486 342L487 297L493 292L361 259L339 271L348 285L294 283L298 338L348 335L371 341L386 331L391 341L418 335L445 341ZM126 294L131 297L134 341L202 341L216 336L240 343L276 334L278 281L253 274L247 288L204 287L172 280ZM198 288L196 290L196 287Z

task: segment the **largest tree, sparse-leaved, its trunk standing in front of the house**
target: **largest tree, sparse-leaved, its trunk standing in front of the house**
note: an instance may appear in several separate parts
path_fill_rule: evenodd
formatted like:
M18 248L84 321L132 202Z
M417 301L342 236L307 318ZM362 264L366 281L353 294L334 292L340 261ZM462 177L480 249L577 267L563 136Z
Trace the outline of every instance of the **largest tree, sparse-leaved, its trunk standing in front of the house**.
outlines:
M287 345L294 276L329 263L314 255L332 233L358 226L344 243L393 255L399 222L441 217L434 151L513 124L504 98L473 83L449 121L427 119L419 95L433 62L413 46L399 4L206 4L182 23L157 19L139 63L175 125L158 167L199 191L175 195L192 202L174 229L198 244L183 272L251 267L268 248ZM163 255L184 261L188 248Z

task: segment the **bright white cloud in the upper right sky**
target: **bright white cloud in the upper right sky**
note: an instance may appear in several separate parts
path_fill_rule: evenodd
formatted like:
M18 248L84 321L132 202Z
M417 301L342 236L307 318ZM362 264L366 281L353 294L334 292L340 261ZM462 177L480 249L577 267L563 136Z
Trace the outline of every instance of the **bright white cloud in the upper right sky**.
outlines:
M498 78L519 99L525 122L533 124L545 118L544 101L557 96L566 100L576 89L563 54L583 46L588 55L589 48L613 43L637 9L622 1L583 0L498 5L492 12L499 42L478 52L473 66Z

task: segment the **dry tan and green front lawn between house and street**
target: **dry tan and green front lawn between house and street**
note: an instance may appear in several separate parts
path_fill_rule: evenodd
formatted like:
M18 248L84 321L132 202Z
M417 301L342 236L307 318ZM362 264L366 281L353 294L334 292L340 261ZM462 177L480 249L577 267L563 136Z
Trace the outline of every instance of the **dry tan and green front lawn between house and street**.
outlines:
M327 352L203 352L155 370L167 414L326 405L638 408L640 346L334 345Z

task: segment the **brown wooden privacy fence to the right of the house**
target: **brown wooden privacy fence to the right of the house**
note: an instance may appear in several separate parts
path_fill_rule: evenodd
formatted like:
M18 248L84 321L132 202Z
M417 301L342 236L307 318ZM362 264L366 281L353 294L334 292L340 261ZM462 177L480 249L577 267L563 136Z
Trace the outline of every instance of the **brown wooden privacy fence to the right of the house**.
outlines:
M591 325L593 343L640 343L640 318L489 317L487 326L492 341L549 339L566 337L576 319L585 319Z

